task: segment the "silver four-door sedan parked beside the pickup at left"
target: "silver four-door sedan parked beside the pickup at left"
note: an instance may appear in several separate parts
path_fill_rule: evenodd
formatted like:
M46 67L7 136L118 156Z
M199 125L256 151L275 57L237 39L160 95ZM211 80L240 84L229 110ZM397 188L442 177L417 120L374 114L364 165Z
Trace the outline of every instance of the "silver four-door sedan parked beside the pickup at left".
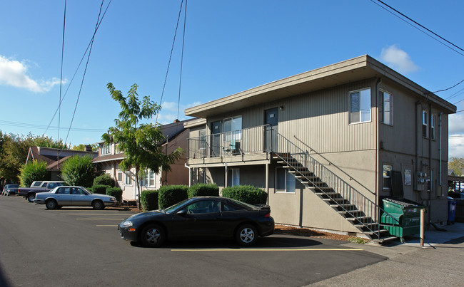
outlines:
M84 187L55 187L50 192L40 192L34 199L36 204L45 204L46 209L65 206L93 207L104 209L118 204L116 197L106 194L94 194Z

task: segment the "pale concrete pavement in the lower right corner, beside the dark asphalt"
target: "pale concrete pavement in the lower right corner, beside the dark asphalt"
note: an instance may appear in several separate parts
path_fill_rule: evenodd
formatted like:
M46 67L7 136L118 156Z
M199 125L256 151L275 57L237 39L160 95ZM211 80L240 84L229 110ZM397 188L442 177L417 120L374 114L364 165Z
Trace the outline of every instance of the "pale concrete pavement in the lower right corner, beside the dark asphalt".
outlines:
M418 236L404 244L343 244L388 259L311 286L464 286L464 224L442 228L447 231L425 231L424 247Z

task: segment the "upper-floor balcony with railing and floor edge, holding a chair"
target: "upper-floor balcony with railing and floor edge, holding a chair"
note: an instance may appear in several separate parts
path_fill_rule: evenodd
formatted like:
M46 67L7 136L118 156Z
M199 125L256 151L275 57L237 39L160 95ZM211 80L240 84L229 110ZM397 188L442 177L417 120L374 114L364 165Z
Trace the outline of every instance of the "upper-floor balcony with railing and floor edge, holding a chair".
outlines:
M270 125L261 125L191 137L187 140L188 165L269 160L268 152L276 144L274 134Z

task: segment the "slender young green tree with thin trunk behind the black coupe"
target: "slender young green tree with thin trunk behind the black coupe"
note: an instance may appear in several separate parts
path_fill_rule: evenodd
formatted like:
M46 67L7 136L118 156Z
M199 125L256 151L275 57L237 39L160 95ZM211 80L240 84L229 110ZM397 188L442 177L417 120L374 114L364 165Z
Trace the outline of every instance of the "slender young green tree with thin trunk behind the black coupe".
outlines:
M111 98L121 105L121 112L114 120L116 126L110 127L101 138L107 145L115 143L118 150L124 153L124 159L119 164L120 169L136 169L136 184L140 190L138 172L141 169L149 168L155 173L159 172L161 167L163 170L171 170L170 165L180 159L183 150L178 148L170 155L165 155L161 146L164 142L161 126L158 123L153 125L139 122L151 120L161 110L161 106L156 105L148 96L138 100L138 85L133 84L126 97L120 90L116 90L112 83L108 83L107 88Z

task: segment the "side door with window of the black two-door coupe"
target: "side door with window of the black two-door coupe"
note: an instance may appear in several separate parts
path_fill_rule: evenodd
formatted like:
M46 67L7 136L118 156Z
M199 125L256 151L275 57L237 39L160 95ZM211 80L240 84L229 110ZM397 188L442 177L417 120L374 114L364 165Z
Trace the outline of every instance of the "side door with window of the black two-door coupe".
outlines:
M212 238L222 236L219 202L204 199L188 204L184 214L174 214L171 236L189 238Z

